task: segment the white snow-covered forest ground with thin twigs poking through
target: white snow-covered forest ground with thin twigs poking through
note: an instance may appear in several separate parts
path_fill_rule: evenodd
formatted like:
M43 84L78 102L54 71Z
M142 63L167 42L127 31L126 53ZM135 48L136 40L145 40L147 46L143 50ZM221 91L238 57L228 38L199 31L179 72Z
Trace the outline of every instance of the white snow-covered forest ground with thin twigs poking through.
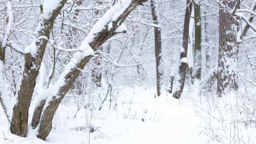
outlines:
M180 100L162 96L155 90L126 89L115 108L106 102L102 110L81 109L62 104L54 116L46 142L33 130L27 138L11 134L0 107L0 144L253 144L255 123L240 122L234 110L236 96L194 96ZM76 114L76 118L74 115ZM143 119L143 120L142 120ZM91 130L94 132L90 132Z

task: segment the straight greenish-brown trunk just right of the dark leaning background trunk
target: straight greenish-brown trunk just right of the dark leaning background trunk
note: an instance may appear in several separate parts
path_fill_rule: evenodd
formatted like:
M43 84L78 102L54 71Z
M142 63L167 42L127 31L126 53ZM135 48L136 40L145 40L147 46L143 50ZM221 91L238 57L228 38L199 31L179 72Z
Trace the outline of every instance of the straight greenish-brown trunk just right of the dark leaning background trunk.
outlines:
M194 45L194 66L192 77L201 79L202 59L201 59L201 42L202 42L202 26L200 14L200 0L194 0L195 12L195 45Z

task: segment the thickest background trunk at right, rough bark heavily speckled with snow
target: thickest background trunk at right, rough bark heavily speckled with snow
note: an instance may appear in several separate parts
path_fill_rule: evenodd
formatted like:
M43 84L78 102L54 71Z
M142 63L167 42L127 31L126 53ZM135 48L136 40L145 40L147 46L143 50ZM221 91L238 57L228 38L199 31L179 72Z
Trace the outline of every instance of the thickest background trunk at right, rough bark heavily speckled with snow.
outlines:
M223 0L223 4L234 8L236 2ZM219 56L218 56L218 87L217 94L223 94L232 90L238 90L237 74L237 26L234 16L221 7L219 11Z

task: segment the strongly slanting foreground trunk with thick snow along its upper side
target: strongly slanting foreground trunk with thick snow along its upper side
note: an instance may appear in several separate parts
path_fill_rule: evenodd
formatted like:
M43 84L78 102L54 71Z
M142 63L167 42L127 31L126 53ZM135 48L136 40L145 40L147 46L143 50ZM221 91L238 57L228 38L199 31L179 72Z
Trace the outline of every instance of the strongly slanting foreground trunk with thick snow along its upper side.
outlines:
M131 0L123 7L118 3L112 6L105 14L96 22L92 30L86 36L84 42L79 49L82 52L77 52L65 68L61 77L49 89L50 92L46 104L44 105L41 114L40 124L38 126L38 138L45 140L52 129L52 118L68 92L74 80L78 77L81 70L88 63L94 51L96 51L106 40L121 33L119 26L124 22L128 14L132 12L138 5L146 2L147 0ZM111 25L110 25L111 24ZM109 28L108 28L109 27ZM118 29L118 31L116 31ZM126 31L122 31L125 33ZM87 48L87 49L85 49Z

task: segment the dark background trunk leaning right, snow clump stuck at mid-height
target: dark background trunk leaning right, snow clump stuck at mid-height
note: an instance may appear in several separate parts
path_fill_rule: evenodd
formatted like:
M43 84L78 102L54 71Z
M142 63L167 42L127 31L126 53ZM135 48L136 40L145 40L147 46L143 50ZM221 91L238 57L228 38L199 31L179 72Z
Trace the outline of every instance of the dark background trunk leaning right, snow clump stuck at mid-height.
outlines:
M192 1L187 0L187 8L185 13L185 19L184 19L184 28L183 28L183 40L182 40L182 48L183 50L180 53L180 66L179 66L179 74L178 74L178 86L176 92L173 94L174 98L180 98L185 78L186 78L186 72L188 69L188 63L184 62L184 58L187 59L187 52L188 52L188 34L189 34L189 22L190 22L190 14L192 10Z

